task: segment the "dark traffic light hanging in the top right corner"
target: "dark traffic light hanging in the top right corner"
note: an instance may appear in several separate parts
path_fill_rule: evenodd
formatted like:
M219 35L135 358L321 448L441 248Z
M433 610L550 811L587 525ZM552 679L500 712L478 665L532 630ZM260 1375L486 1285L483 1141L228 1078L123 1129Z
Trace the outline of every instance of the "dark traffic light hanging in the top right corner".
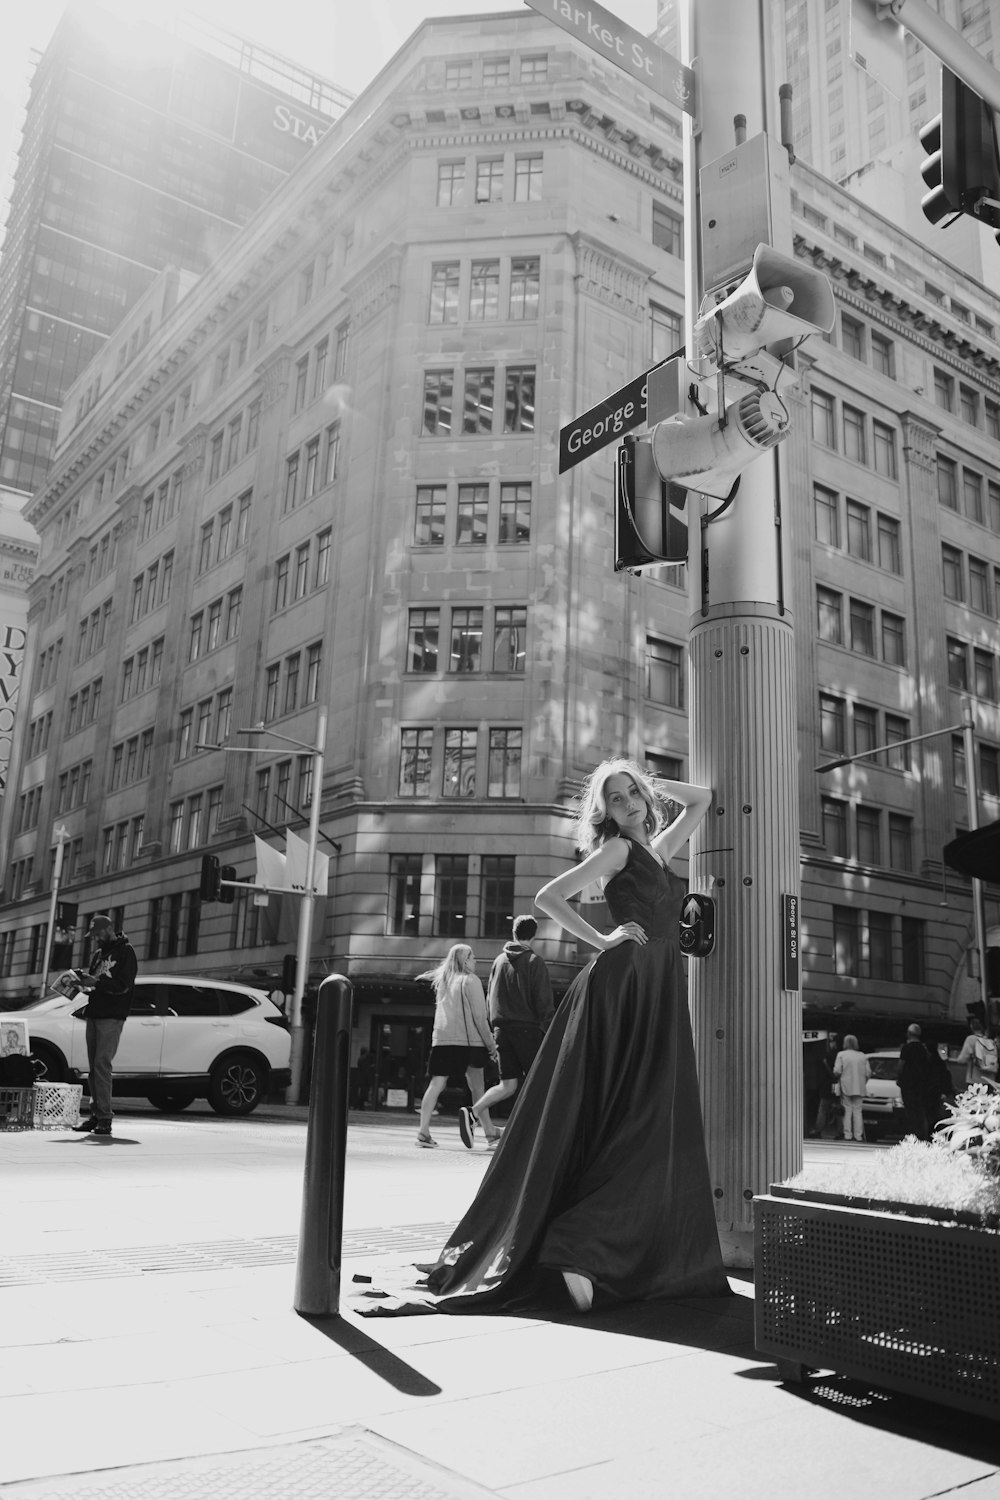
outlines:
M940 224L967 213L1000 228L1000 154L991 106L942 68L942 112L921 130L928 153L921 177L930 192L921 198L924 216Z

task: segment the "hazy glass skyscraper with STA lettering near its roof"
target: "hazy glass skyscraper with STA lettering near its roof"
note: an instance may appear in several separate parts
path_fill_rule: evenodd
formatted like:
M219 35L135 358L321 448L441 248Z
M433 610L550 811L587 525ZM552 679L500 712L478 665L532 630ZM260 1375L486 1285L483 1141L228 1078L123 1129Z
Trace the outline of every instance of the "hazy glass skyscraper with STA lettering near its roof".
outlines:
M40 484L63 394L123 314L165 266L204 270L349 99L214 28L66 12L0 260L0 486Z

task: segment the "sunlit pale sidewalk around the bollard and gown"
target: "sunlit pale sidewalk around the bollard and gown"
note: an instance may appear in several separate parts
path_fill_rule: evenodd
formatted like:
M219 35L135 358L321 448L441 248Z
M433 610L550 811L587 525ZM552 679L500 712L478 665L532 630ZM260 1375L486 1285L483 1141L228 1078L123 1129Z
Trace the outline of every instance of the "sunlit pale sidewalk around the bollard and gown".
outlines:
M996 1426L838 1377L783 1386L754 1352L744 1281L729 1299L591 1317L361 1318L369 1288L405 1284L409 1263L439 1248L487 1160L444 1130L445 1149L415 1154L409 1120L352 1126L348 1166L355 1138L388 1152L381 1180L418 1179L426 1216L396 1221L387 1204L364 1226L366 1204L352 1200L342 1317L301 1318L291 1190L285 1209L268 1203L253 1218L261 1206L247 1202L237 1221L217 1184L267 1180L270 1194L277 1179L258 1173L282 1150L292 1180L304 1130L205 1125L195 1131L210 1192L180 1170L192 1128L177 1122L130 1118L109 1150L0 1134L4 1500L178 1500L223 1486L247 1500L930 1500L960 1490L1000 1500ZM129 1204L139 1156L141 1179L169 1200L160 1220L151 1192L141 1224ZM63 1176L66 1160L75 1178ZM45 1197L54 1180L60 1192L79 1180L69 1208L88 1208L58 1251ZM171 1239L178 1194L189 1212ZM31 1268L42 1274L24 1280ZM355 1274L373 1280L355 1284Z

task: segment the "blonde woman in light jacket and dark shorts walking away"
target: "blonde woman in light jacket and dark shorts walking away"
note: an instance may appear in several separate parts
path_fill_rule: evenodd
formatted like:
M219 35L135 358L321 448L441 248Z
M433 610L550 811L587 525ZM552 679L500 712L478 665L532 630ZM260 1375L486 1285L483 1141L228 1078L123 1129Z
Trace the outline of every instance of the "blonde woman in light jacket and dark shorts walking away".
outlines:
M430 980L435 987L435 1020L430 1036L427 1072L430 1083L420 1101L418 1146L436 1146L430 1134L430 1116L448 1077L465 1072L472 1095L472 1104L483 1098L483 1068L495 1053L486 996L475 974L475 956L468 944L451 946L442 963L421 980ZM493 1138L499 1131L493 1132Z

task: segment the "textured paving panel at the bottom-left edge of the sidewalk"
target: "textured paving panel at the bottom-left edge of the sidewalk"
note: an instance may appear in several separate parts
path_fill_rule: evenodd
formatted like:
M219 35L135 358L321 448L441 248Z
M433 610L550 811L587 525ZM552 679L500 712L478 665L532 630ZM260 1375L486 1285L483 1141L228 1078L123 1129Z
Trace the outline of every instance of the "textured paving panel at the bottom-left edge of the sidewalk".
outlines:
M336 1437L210 1458L4 1485L4 1500L490 1500L492 1490L351 1428Z

